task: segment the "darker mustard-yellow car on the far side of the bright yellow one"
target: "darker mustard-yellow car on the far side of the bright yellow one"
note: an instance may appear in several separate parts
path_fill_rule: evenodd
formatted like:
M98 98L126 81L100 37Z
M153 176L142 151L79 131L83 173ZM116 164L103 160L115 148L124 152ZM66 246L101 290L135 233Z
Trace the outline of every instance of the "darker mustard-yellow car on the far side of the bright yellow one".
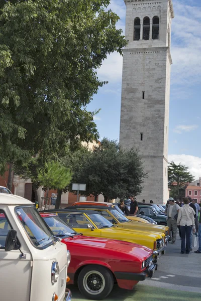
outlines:
M103 215L112 224L117 225L124 229L148 231L148 232L158 232L165 234L165 244L169 241L169 228L162 225L144 224L136 223L129 220L126 216L122 215L116 208L106 207L106 206L76 206L76 210L93 210L97 211L99 214ZM67 208L66 208L67 209ZM68 209L74 209L74 206L68 207Z

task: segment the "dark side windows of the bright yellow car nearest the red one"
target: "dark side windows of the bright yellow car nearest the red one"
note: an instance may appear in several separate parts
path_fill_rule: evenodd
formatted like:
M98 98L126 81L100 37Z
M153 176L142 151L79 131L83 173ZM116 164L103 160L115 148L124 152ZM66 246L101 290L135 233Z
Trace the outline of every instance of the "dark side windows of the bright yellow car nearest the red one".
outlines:
M61 217L60 213L58 213L58 216ZM63 221L65 221L72 228L87 229L87 225L91 224L83 214L66 213L65 216L65 220L62 217L61 219L63 219Z

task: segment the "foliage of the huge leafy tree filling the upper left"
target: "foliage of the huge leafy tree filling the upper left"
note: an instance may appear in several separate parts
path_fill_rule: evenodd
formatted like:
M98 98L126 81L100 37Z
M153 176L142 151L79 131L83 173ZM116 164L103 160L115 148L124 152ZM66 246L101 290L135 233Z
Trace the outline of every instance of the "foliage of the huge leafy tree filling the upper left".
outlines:
M0 171L98 138L96 70L126 45L110 0L0 2ZM47 159L48 160L48 159Z

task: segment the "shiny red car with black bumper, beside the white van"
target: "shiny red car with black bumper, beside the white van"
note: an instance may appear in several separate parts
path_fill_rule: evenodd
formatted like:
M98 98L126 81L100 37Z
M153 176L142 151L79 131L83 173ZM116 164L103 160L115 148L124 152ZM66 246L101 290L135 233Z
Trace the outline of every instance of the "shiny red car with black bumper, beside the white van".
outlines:
M43 214L55 236L60 237L71 254L69 284L77 283L89 299L104 299L113 289L133 289L157 269L153 251L126 241L83 236L54 214Z

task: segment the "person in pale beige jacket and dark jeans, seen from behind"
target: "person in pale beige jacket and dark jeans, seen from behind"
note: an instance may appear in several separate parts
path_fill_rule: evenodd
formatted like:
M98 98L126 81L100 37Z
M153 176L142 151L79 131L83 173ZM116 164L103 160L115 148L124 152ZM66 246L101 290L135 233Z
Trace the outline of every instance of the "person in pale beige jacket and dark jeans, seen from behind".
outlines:
M188 199L183 199L184 205L179 209L177 225L181 229L181 254L190 252L190 233L195 232L194 210L189 206ZM186 239L186 242L185 242Z

